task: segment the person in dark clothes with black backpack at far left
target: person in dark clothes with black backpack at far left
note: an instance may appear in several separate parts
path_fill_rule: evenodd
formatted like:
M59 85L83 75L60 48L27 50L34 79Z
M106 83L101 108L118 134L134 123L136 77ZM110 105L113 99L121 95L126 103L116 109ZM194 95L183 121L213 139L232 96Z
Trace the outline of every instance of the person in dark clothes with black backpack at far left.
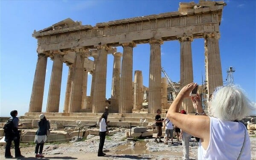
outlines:
M6 149L5 149L5 157L6 158L12 158L11 154L11 145L12 145L12 140L14 141L14 146L15 146L15 158L21 158L24 157L20 153L20 131L18 130L19 126L19 118L17 117L18 111L13 110L11 111L11 116L10 120L12 120L12 133L7 134L5 133L5 141L6 141Z

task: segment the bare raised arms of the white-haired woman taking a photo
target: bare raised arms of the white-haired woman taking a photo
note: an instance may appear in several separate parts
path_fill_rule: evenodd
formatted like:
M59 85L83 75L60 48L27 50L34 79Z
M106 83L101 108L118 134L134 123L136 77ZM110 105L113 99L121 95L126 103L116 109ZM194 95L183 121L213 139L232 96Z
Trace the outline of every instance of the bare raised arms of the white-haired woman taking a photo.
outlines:
M173 124L180 128L182 131L185 131L186 133L189 133L195 137L201 138L201 142L204 140L207 141L208 146L210 118L208 116L195 116L178 113L183 99L190 97L189 93L195 88L195 86L196 83L190 83L180 90L180 93L178 93L177 97L172 102L172 105L168 110L167 118L170 119ZM198 97L195 98L195 102L199 103ZM202 108L200 109L200 105L197 107L198 112L201 113Z

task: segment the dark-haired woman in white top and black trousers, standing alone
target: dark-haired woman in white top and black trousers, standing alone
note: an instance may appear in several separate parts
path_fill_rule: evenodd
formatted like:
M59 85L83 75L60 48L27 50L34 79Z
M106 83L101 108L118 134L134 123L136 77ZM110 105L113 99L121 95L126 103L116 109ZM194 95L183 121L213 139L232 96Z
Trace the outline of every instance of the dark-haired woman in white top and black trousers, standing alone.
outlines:
M99 150L98 150L99 157L106 155L105 153L103 153L103 146L106 138L106 131L107 131L106 128L109 123L107 119L108 119L108 112L104 112L102 116L99 118Z

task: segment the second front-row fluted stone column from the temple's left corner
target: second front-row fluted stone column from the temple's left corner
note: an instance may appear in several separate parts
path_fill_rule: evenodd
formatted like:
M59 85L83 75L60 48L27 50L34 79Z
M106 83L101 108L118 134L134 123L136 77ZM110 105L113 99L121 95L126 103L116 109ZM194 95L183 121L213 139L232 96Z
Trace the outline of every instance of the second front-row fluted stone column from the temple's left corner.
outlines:
M58 112L61 95L61 77L63 68L63 53L53 51L52 74L49 86L46 112Z

